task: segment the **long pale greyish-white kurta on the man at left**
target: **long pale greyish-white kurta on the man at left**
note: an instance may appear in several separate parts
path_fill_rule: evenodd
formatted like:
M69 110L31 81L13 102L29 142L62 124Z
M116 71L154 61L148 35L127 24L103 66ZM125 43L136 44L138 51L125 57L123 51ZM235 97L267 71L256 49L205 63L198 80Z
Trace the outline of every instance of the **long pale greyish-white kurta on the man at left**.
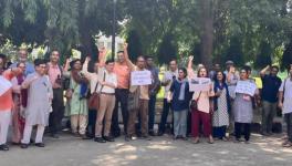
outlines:
M30 74L24 82L32 80L36 73ZM28 125L49 124L49 115L51 110L50 97L53 91L51 82L46 75L33 81L28 87L28 107L25 111L25 123Z

